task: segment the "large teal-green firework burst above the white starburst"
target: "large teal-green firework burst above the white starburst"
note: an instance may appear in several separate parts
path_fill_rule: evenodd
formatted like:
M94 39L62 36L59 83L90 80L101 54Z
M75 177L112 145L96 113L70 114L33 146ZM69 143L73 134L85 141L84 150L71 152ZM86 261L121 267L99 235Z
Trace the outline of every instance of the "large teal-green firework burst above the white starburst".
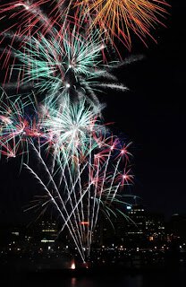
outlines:
M60 39L38 35L24 41L23 51L14 51L14 57L22 64L14 65L12 69L23 74L22 83L33 82L38 91L51 91L54 95L59 90L66 93L75 88L79 91L80 87L90 92L97 86L124 90L122 84L93 82L99 77L116 81L116 77L107 70L118 62L102 65L103 48L103 40L98 39L97 31L89 33L87 38L78 34L77 29L72 32L64 30Z

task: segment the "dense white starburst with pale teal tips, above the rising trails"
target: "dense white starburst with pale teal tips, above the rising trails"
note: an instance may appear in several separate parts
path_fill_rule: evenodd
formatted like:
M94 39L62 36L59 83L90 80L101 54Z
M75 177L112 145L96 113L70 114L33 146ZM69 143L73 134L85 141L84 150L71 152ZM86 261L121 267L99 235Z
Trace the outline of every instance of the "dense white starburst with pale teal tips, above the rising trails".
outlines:
M57 144L62 155L67 155L64 159L65 164L72 161L74 152L81 151L83 154L89 152L88 135L91 133L91 128L97 130L101 127L97 120L98 112L98 107L96 112L91 107L86 108L86 99L71 104L65 98L58 109L56 105L48 107L47 117L44 118L42 126L47 137L50 137L52 130L52 141ZM94 141L91 147L95 149L97 142Z

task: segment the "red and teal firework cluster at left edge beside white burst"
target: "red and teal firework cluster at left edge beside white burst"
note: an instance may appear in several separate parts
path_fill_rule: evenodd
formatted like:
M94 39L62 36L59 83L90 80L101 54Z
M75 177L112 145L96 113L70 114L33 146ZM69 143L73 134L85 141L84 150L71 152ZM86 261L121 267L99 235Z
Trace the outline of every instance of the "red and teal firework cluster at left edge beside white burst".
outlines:
M7 97L3 92L0 101L0 154L15 157L28 154L28 138L38 137L36 118L27 114L27 109L36 113L30 97Z

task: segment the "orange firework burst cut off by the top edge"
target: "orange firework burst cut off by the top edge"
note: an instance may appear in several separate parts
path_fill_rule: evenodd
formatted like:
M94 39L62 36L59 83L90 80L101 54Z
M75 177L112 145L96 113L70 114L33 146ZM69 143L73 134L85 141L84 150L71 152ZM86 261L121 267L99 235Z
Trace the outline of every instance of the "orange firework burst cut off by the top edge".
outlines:
M131 48L131 30L145 43L146 36L167 13L165 0L82 0L76 2L81 15L89 15L91 27L99 25L110 39L114 37ZM84 17L84 16L83 16Z

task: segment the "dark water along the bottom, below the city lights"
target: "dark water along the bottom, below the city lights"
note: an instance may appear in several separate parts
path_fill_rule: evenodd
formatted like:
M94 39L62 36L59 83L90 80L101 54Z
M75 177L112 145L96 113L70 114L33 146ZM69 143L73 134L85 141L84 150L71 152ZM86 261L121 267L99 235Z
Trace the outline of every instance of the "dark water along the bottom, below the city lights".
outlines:
M2 278L2 277L1 277ZM4 277L4 284L10 283L10 275ZM11 276L12 286L19 287L185 287L186 269L180 266L178 269L164 271L146 271L143 273L123 274L104 272L103 274L80 274L65 276L64 274L38 274Z

